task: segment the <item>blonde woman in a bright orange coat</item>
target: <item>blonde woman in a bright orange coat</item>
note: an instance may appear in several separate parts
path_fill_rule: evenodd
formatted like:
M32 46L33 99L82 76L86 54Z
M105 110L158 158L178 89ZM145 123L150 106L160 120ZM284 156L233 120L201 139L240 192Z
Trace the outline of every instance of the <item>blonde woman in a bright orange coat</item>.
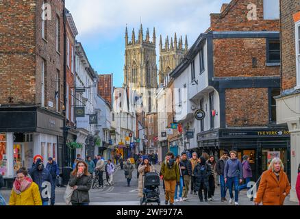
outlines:
M284 164L278 157L273 158L268 170L262 173L262 179L255 198L255 205L284 205L284 199L290 193L288 176Z

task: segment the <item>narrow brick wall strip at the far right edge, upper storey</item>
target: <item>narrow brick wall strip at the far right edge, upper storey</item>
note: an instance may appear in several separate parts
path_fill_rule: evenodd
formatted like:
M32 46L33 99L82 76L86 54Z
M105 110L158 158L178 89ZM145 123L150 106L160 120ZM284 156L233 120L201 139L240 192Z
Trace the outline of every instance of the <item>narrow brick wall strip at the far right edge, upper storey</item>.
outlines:
M295 23L292 15L300 11L300 1L281 0L282 90L294 88L296 82Z

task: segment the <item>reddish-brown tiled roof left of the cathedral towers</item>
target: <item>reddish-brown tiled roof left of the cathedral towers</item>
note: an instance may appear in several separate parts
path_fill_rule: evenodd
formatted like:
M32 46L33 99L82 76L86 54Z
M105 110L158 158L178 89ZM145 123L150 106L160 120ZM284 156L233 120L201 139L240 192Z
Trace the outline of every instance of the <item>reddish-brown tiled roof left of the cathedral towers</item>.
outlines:
M98 94L112 105L112 74L98 75Z

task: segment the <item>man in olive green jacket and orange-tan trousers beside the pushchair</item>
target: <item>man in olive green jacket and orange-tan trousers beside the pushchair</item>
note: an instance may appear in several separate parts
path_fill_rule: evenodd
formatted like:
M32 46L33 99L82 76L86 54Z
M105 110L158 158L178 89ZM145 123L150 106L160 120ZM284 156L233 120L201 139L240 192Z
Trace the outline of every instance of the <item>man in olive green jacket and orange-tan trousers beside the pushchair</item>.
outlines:
M166 154L166 159L162 163L162 176L164 177L164 186L166 190L166 201L164 203L168 205L174 205L175 187L176 183L179 184L179 166L175 162L174 155L171 152Z

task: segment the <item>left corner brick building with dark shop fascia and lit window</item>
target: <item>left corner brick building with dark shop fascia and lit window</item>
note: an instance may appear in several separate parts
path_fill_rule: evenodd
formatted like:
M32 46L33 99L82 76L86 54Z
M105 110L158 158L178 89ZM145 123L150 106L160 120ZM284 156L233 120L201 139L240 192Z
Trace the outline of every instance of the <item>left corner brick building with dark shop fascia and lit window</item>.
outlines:
M0 1L0 14L0 171L12 182L34 155L60 159L64 1Z

